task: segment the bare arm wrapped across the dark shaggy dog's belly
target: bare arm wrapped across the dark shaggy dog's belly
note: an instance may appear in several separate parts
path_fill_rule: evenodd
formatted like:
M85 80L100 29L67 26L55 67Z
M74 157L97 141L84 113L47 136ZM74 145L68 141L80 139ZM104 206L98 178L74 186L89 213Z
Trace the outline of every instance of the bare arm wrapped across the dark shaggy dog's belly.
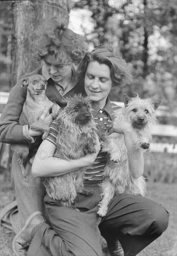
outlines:
M100 150L100 143L99 140L97 140L95 153L88 153L84 157L76 160L71 159L69 161L53 157L55 149L56 146L52 142L48 140L42 141L33 161L33 177L37 178L59 176L91 165L98 155Z

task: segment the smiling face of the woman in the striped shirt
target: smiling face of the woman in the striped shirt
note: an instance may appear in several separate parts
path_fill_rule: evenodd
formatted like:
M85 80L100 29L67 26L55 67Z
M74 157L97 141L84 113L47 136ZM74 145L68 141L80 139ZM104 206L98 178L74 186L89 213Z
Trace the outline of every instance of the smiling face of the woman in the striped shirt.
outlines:
M90 100L104 108L111 87L110 68L99 64L98 61L90 62L85 73L85 92L90 96Z

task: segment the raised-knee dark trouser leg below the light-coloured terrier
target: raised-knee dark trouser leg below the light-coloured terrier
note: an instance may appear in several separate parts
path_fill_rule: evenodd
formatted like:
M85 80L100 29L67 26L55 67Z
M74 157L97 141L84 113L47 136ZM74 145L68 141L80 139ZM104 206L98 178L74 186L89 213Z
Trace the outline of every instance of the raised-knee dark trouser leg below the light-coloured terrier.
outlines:
M125 256L137 255L168 227L168 212L142 196L119 195L111 201L107 215L99 224L108 245L118 238Z

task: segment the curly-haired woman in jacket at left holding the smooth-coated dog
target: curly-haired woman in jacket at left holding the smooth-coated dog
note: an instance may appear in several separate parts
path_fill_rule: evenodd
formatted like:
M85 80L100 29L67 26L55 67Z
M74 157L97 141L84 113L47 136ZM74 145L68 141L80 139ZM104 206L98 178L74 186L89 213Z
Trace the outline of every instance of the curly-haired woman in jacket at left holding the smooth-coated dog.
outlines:
M48 26L48 23L46 24ZM83 93L84 88L79 86L76 70L84 54L84 38L66 28L62 20L51 20L51 27L46 27L45 30L40 31L40 37L33 54L38 61L43 60L43 66L30 74L26 74L26 76L35 74L45 76L48 82L46 96L53 103L62 97ZM34 131L27 123L19 124L25 101L26 87L20 88L20 85L16 84L10 92L3 111L6 115L2 114L4 118L0 125L1 142L9 143L12 146L13 144L27 144L30 148L26 162L23 163L25 166L23 175L18 161L20 152L13 153L12 177L15 191L19 191L19 193L16 201L7 205L1 212L2 223L7 224L9 228L13 227L17 233L20 225L26 222L27 217L33 211L39 210L44 213L43 197L45 190L41 179L33 178L30 162L42 141L43 131L40 128L38 131ZM52 115L49 114L49 108L45 108L44 113L46 114L45 122L50 125ZM24 188L27 191L26 196L20 193Z

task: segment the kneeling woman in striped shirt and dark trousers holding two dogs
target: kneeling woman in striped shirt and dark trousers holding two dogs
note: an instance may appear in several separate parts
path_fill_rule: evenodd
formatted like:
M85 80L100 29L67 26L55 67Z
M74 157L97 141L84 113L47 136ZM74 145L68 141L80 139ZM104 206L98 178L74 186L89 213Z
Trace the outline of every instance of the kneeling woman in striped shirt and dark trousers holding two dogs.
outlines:
M112 87L120 88L125 76L129 75L127 64L111 49L95 49L85 54L79 71L85 84L85 92L92 101L94 121L108 131L111 115L119 108L109 100L108 94ZM103 170L106 163L105 155L99 151L99 141L95 147L96 159L93 153L78 160L66 161L53 158L57 135L57 131L53 128L55 128L54 123L51 125L50 134L41 143L35 156L33 176L59 176L90 166L94 162L95 168L88 167L84 176L85 188L94 193L78 194L73 206L79 211L60 206L59 202L46 195L44 202L49 213L50 225L46 223L41 213L35 212L26 222L29 232L20 233L14 240L14 246L20 237L20 241L22 238L24 241L23 253L26 244L31 243L27 251L28 256L101 256L103 255L102 235L112 256L120 255L118 241L124 250L121 255L137 255L167 228L168 212L160 204L145 197L122 194L114 196L105 217L98 216L97 205L101 200L99 183L104 178ZM139 149L139 159L131 158L131 152L136 149L136 132L123 119L113 123L113 130L124 133L131 175L138 178L143 174L144 157L143 150ZM45 152L45 159L39 157L40 152Z

